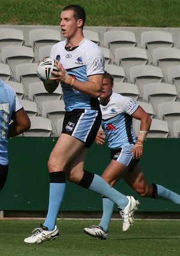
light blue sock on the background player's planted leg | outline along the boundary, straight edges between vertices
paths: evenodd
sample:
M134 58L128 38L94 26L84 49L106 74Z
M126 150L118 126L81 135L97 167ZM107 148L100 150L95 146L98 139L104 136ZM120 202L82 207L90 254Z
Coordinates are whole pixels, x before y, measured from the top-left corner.
M113 208L115 203L111 201L109 198L103 198L103 216L99 223L106 232L109 229L110 219L112 217Z

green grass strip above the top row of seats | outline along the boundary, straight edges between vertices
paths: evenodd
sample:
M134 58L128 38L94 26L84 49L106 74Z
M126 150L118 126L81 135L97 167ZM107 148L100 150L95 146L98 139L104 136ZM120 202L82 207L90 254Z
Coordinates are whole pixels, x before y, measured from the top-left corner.
M179 0L1 0L0 24L59 25L59 13L79 4L86 26L179 27Z

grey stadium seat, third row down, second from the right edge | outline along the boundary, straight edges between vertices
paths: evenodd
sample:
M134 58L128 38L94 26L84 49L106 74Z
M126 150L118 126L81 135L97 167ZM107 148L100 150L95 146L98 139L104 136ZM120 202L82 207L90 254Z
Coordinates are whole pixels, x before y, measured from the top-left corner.
M150 83L162 83L163 72L160 67L151 65L133 66L130 68L131 83L137 84L140 95L143 96L143 86Z

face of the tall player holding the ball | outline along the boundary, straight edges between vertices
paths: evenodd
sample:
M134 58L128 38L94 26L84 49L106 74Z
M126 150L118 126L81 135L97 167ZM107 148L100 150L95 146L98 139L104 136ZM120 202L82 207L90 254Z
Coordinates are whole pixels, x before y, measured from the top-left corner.
M67 39L75 36L78 28L78 20L74 18L74 11L62 11L60 19L62 35Z

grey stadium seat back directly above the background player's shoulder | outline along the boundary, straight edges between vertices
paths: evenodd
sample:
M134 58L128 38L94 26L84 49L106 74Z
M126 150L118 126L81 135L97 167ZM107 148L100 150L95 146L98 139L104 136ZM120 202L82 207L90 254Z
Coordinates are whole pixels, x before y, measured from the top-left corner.
M139 90L136 84L114 83L113 92L133 98L134 101L139 99Z

